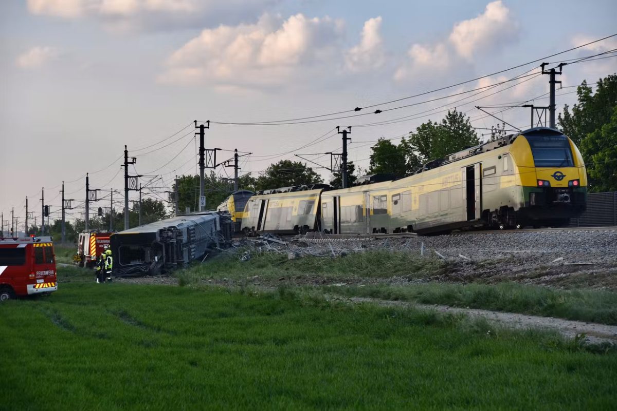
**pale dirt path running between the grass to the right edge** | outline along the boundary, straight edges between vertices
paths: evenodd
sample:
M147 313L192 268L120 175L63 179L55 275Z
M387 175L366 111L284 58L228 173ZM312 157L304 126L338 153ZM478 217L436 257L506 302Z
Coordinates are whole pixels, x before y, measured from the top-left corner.
M446 305L415 304L407 301L376 300L373 298L352 297L354 303L375 303L381 306L411 306L421 309L433 309L440 313L463 313L470 317L484 317L511 328L549 328L558 330L568 338L584 333L590 343L617 343L617 325L595 324L593 322L571 321L554 317L530 316L527 314L502 313L487 309L455 308Z

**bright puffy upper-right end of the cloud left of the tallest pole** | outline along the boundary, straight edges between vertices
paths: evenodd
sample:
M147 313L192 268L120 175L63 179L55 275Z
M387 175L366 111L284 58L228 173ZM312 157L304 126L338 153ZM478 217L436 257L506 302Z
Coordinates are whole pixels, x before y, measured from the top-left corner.
M487 4L484 13L478 17L456 23L449 39L458 54L471 60L478 50L489 52L510 41L516 30L510 10L497 0Z

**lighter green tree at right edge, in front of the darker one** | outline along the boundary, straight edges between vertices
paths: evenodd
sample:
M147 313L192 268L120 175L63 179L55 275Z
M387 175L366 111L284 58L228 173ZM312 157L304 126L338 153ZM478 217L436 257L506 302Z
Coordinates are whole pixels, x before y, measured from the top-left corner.
M610 122L587 134L581 150L590 161L587 174L594 180L594 191L617 190L617 106L613 107Z

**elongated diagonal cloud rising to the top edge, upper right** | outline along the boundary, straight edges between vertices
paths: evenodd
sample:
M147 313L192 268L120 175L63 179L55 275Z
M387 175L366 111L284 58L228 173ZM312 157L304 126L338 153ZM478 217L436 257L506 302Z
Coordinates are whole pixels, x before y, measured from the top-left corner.
M407 59L394 73L407 81L445 73L453 66L469 66L476 55L494 52L516 38L518 23L500 0L486 5L478 17L455 23L447 39L434 44L412 44Z

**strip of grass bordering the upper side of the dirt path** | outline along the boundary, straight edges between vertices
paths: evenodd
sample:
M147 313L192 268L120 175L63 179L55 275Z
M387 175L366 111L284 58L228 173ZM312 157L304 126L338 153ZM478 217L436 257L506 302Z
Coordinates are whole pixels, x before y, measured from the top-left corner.
M608 291L559 290L515 282L494 285L428 283L325 289L348 297L492 309L617 325L617 293Z

